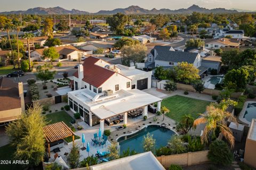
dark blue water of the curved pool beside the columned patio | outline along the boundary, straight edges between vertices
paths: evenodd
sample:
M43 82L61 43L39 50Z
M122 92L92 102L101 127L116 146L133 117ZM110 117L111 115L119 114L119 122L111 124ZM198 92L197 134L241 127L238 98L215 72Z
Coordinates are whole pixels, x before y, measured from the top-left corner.
M156 148L166 146L172 135L175 134L173 131L159 125L149 125L147 128L143 128L137 133L119 138L120 154L122 155L123 151L128 148L130 148L130 150L134 149L138 153L143 152L142 141L144 135L147 135L147 133L153 134L153 138L156 140Z

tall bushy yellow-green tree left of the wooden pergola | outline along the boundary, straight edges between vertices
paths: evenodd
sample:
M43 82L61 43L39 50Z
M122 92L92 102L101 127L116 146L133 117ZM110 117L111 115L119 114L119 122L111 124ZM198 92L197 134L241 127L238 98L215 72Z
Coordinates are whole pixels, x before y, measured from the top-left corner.
M45 153L45 138L43 127L46 125L42 108L35 104L29 108L17 121L6 128L11 144L16 148L14 158L28 160L29 166L37 166L43 161Z

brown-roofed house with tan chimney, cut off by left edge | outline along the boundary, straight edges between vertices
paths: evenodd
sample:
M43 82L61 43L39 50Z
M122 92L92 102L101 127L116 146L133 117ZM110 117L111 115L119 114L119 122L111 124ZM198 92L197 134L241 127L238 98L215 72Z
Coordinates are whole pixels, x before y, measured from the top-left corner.
M0 77L0 123L10 122L20 117L25 111L22 82Z

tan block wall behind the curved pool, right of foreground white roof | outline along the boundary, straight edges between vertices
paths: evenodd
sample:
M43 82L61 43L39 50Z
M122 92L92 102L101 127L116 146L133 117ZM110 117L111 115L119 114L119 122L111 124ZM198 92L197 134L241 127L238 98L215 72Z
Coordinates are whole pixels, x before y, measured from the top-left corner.
M191 166L208 162L208 152L209 150L203 150L197 152L187 152L185 154L159 156L156 158L165 168L169 168L172 164L180 166Z

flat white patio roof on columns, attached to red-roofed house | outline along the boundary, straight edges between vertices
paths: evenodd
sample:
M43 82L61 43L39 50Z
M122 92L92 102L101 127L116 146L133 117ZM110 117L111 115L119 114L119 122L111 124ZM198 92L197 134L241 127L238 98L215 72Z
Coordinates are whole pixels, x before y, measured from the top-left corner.
M97 117L105 119L162 100L161 98L155 97L138 89L127 90L126 92L131 94L129 98L123 98L113 104L106 106L102 105L98 108L91 109L91 112L93 112Z

